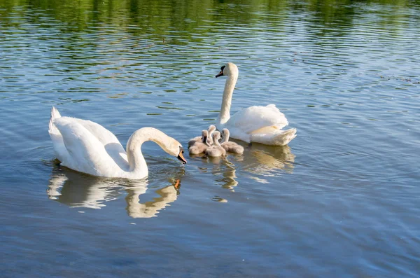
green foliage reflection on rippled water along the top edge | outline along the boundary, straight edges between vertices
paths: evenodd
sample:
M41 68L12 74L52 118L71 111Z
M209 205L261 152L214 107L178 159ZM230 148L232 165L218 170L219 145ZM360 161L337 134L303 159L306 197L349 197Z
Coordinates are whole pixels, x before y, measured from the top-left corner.
M59 26L63 32L112 25L134 35L149 34L148 39L162 44L182 45L186 43L185 40L200 41L200 36L196 34L218 32L218 27L222 25L235 27L263 22L279 27L277 24L288 15L302 12L311 15L308 20L314 22L314 25L326 27L348 27L360 12L377 14L379 24L395 27L402 22L402 17L409 16L395 11L412 5L407 0L0 0L0 22L2 25L18 27L20 23L10 18L19 15L30 22L43 23L43 28L55 28L57 25L51 22L53 18L64 23ZM177 36L172 36L173 32ZM328 32L328 28L324 32Z

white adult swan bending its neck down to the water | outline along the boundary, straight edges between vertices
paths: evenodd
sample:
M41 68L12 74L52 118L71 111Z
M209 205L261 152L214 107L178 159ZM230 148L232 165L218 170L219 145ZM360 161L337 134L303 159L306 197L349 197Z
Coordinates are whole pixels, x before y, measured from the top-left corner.
M148 175L141 144L154 141L181 162L183 148L179 141L153 127L135 131L127 142L127 153L117 137L90 120L62 117L51 109L48 132L61 165L94 176L141 179Z

